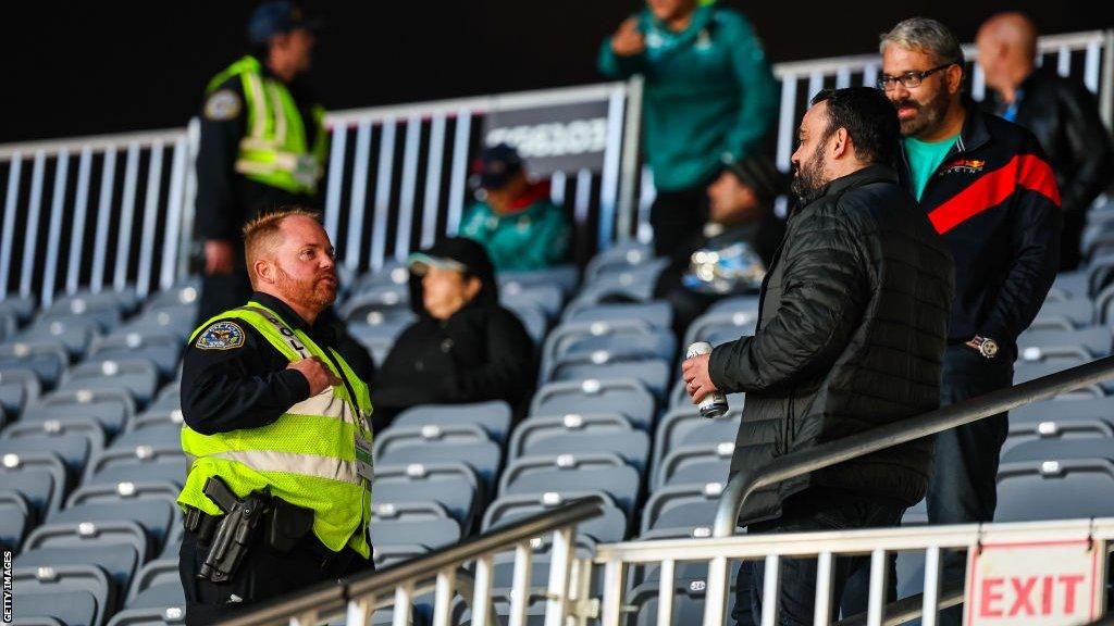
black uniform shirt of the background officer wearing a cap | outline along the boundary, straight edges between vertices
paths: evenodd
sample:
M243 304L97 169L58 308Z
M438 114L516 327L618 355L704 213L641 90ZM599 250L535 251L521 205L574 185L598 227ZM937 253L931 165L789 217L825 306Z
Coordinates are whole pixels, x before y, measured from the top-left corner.
M263 75L278 80L263 63ZM305 126L306 146L316 140L315 99L304 85L286 85ZM247 101L241 77L233 76L205 98L197 151L197 234L205 239L236 241L244 222L261 208L312 202L256 183L236 172L240 140L247 134Z

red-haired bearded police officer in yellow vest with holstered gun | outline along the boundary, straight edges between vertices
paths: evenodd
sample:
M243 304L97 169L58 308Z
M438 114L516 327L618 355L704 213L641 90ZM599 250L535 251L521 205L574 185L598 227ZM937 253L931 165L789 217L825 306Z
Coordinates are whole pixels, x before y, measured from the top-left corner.
M373 567L372 408L350 364L367 359L323 316L329 236L317 214L283 207L247 223L244 247L255 293L202 324L183 365L187 624Z

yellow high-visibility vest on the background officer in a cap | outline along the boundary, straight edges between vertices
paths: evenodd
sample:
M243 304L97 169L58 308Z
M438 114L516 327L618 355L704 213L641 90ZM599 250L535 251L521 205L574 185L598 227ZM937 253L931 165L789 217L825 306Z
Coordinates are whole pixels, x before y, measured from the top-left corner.
M286 85L263 74L254 57L244 57L209 82L212 91L240 76L247 107L247 135L240 143L235 169L246 178L294 194L313 194L324 169L324 114L314 107L316 127L312 149L306 145L306 120Z

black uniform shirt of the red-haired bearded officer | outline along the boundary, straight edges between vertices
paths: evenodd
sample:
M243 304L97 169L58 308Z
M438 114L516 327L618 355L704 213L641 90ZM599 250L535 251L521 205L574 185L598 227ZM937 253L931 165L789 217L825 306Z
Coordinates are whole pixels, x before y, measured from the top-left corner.
M286 325L304 332L323 350L335 349L352 371L371 384L371 358L344 332L331 310L322 312L311 326L277 297L256 292L252 301L277 313ZM186 426L202 434L215 434L274 422L310 397L309 381L287 365L290 360L251 324L233 317L213 322L186 348L182 371Z

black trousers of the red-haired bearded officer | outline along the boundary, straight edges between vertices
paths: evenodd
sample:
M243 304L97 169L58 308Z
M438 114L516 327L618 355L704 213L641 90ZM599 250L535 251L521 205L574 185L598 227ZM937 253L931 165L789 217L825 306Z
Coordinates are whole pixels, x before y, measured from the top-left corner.
M257 532L232 580L218 585L197 578L208 555L208 545L198 545L193 532L185 534L178 551L178 575L186 595L187 626L215 624L251 610L260 600L375 569L371 559L363 558L352 548L345 546L340 552L333 552L313 535L286 554L267 548L262 539L263 534Z

